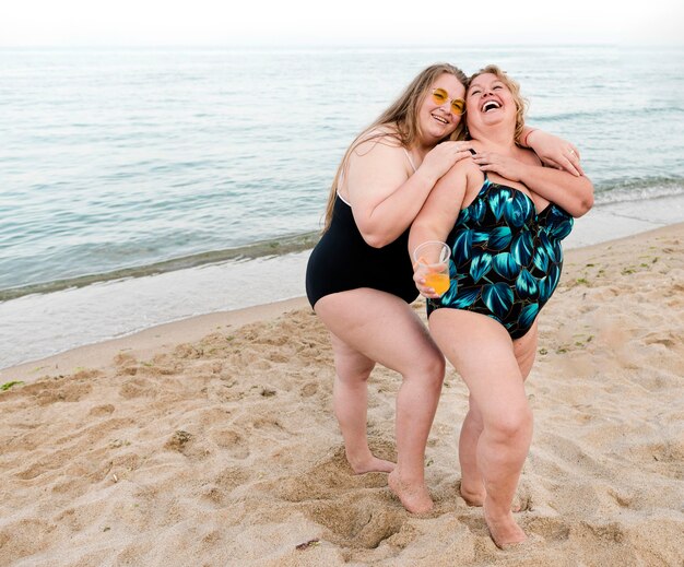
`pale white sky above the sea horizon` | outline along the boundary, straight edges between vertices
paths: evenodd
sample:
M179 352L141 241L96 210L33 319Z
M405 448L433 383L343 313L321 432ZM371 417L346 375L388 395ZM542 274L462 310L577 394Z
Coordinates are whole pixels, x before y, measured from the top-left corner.
M0 46L684 45L682 0L5 0L2 4Z

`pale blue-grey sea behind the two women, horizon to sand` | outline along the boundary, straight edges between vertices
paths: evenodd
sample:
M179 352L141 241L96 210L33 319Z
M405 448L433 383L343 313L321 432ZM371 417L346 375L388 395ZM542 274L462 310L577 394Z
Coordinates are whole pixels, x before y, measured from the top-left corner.
M684 194L681 47L1 49L0 368L303 295L346 145L439 61L518 80L597 203Z

